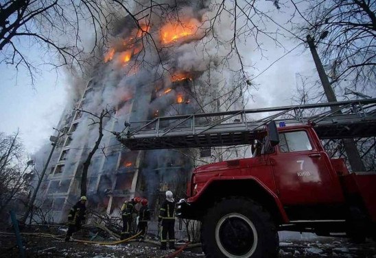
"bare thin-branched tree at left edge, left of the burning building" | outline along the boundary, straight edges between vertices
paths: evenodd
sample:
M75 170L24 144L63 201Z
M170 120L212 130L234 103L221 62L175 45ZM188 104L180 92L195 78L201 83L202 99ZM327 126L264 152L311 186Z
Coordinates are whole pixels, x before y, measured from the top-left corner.
M14 200L27 185L27 168L32 162L25 162L19 131L6 136L0 133L0 214L10 201Z

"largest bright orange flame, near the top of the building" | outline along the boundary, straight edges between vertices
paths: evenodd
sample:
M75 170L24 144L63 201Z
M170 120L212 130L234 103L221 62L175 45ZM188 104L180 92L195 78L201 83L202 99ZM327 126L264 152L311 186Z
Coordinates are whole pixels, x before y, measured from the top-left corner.
M166 24L161 29L161 40L164 44L175 42L180 38L184 38L195 33L196 24L188 22L187 24L176 23Z

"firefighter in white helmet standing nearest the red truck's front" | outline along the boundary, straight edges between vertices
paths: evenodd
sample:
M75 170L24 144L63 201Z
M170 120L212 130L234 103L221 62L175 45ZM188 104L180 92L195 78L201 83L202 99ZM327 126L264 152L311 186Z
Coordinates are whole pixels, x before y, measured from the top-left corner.
M172 192L166 192L166 199L159 211L158 226L161 225L161 250L167 249L167 235L169 248L175 248L175 200Z

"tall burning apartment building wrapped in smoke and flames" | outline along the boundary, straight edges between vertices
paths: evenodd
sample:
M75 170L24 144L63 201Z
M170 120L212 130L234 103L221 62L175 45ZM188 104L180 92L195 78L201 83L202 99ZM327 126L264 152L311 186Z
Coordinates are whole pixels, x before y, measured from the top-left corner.
M194 166L239 155L237 149L227 150L228 157L223 150L206 149L201 158L199 150L130 151L111 133L157 116L244 107L244 88L234 72L237 62L221 53L225 47L218 42L205 40L204 21L210 14L204 2L181 1L178 16L138 22L126 16L113 25L110 46L88 79L75 86L80 94L57 126L56 150L38 194L54 222L63 222L80 196L83 163L99 136L93 115L105 109L113 112L102 121L104 136L87 175L88 204L99 212L119 214L121 204L133 196L148 198L157 211L166 190L185 197ZM228 31L215 33L221 37Z

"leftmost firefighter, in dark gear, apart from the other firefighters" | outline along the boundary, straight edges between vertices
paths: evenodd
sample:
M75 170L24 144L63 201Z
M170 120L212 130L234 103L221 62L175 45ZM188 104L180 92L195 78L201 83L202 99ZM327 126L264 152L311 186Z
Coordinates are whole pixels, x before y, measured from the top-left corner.
M67 231L67 236L65 237L65 241L69 241L71 235L76 231L81 229L81 224L86 220L86 196L81 196L80 201L75 203L71 210L69 211L68 215L68 224L69 228Z

